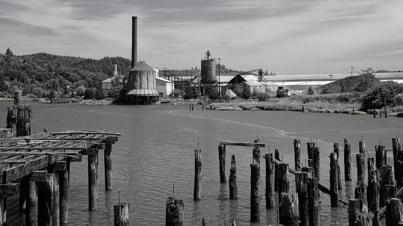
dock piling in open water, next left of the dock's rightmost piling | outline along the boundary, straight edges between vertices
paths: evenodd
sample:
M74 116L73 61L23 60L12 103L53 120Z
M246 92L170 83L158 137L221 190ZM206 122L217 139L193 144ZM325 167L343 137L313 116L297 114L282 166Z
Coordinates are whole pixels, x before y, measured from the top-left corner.
M97 171L96 156L88 155L88 209L97 209Z

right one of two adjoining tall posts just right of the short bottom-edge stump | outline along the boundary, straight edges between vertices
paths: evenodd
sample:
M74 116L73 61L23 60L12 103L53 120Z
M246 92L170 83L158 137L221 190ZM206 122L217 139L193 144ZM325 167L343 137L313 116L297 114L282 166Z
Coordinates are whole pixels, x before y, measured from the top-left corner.
M319 203L318 203L318 179L308 178L307 181L307 194L308 194L308 214L309 214L309 225L318 226L320 225L320 213L319 213Z

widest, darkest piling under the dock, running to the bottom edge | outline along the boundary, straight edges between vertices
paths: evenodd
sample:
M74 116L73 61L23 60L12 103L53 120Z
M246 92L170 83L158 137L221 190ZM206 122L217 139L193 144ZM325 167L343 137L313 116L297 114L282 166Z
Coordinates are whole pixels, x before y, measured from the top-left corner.
M46 174L45 181L38 182L38 225L53 225L53 183L54 174Z

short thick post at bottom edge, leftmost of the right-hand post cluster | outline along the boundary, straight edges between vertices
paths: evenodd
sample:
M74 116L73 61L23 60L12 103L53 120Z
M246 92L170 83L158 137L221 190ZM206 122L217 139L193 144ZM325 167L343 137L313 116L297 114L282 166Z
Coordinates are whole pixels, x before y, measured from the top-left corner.
M280 198L280 223L298 226L298 194L282 192Z

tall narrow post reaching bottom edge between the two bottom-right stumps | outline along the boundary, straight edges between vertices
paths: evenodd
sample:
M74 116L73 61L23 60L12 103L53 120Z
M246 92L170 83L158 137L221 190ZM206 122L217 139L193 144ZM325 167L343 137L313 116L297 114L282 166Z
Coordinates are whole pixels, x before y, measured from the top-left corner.
M373 159L373 158L372 158ZM372 220L372 225L379 225L379 193L378 193L378 171L369 170L368 171L368 188L367 188L367 203L368 210L373 212L374 217Z

